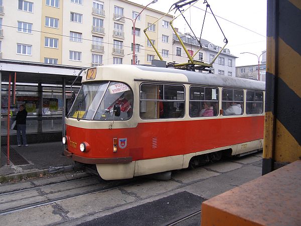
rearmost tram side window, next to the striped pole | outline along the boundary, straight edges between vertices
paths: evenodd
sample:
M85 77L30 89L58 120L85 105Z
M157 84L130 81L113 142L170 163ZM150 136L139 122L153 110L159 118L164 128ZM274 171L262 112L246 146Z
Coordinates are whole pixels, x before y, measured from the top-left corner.
M263 112L263 92L249 91L246 94L246 113L247 115L257 115Z

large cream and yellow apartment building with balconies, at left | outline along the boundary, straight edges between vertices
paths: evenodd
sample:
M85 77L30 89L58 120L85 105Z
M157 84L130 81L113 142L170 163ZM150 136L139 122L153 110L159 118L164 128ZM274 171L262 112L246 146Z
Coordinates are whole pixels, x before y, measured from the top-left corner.
M133 23L144 9L125 0L0 0L0 6L2 59L80 67L131 64ZM148 26L156 48L171 60L173 17L163 16L146 8L137 17L136 63L157 59L143 33Z

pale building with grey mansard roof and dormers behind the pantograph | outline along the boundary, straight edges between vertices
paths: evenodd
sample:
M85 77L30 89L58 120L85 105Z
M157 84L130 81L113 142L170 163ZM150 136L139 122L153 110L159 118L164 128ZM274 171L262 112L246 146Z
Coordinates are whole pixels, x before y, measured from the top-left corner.
M176 29L177 31L178 29ZM178 33L183 41L186 49L194 59L203 61L204 63L211 63L216 57L217 53L222 47L214 45L213 43L201 39L202 49L200 49L199 39L192 36L190 33ZM182 45L179 42L178 37L173 34L173 61L177 63L184 63L188 61L187 54L185 53ZM223 49L221 54L213 63L212 73L224 76L235 77L235 59L237 57L230 54L229 49Z

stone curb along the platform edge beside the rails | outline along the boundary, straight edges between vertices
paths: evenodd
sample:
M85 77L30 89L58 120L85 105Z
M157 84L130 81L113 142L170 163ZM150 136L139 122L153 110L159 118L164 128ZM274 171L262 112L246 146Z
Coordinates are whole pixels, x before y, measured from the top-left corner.
M46 174L56 174L61 172L70 172L74 170L74 166L63 166L61 168L57 168L56 170L53 170L56 167L49 167L48 169L41 169L41 170L35 170L35 171L28 171L28 172L21 172L21 173L13 173L8 175L0 175L0 183L8 182L8 181L20 181L25 178L29 177L42 177ZM51 172L52 171L52 172Z

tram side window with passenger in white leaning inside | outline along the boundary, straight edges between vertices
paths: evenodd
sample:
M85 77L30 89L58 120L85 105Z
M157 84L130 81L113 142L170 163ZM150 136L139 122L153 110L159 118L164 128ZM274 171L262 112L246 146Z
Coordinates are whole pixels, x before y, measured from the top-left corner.
M243 90L222 90L223 116L237 116L243 114Z

